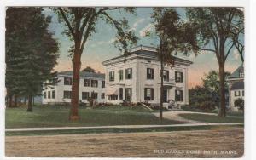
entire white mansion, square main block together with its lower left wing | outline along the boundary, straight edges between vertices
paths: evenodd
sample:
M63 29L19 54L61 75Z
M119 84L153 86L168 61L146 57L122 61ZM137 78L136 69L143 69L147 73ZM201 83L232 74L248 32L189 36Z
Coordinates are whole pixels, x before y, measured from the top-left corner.
M174 67L164 68L164 102L175 100L178 105L189 104L188 66L192 62L178 57L174 60ZM155 48L133 48L129 55L103 61L102 65L106 76L80 72L79 102L88 103L90 97L96 103L119 104L124 100L160 103L160 60ZM71 102L72 76L72 71L59 72L59 82L44 89L43 104Z

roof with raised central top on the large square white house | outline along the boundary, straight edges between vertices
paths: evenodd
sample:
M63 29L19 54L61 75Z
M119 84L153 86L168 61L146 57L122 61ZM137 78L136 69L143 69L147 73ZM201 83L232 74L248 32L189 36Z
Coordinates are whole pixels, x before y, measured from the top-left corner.
M102 64L110 62L112 60L118 60L118 59L122 59L122 58L125 58L125 57L129 57L131 55L136 55L136 56L143 55L143 56L151 57L151 58L154 58L154 59L158 58L155 48L141 45L141 46L138 46L136 48L130 49L129 54L127 54L127 55L123 54L123 55L119 55L117 57L114 57L113 59L105 60L105 61L102 62ZM174 60L177 60L177 61L180 61L180 62L185 62L185 63L188 63L188 64L193 63L192 61L185 60L185 59L179 58L179 57L174 56L174 55L172 55L172 57L174 58Z

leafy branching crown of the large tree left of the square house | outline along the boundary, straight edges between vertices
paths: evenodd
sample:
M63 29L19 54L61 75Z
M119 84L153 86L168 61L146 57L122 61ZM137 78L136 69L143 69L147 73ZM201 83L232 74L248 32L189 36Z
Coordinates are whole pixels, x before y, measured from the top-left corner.
M114 45L119 50L131 48L137 43L137 37L134 31L129 30L128 21L123 18L120 20L113 19L112 10L135 14L135 8L119 8L119 7L69 7L69 8L53 8L61 24L64 26L63 34L67 35L73 45L71 51L82 54L84 45L89 37L96 32L96 24L99 20L104 20L107 24L112 25L116 29L116 39Z

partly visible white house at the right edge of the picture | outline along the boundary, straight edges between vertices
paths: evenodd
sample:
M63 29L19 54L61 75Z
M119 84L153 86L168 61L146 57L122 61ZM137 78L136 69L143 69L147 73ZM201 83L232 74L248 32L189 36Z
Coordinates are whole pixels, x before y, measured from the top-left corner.
M235 106L235 100L238 98L244 99L244 67L239 66L236 71L232 72L230 77L227 77L229 85L229 107L231 111L238 111Z

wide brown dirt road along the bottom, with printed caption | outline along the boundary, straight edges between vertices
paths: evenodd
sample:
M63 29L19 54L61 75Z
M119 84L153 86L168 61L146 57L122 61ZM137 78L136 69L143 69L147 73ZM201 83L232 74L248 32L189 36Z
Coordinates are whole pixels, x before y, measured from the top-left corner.
M243 128L6 136L7 157L241 157Z

